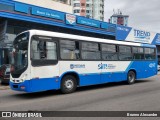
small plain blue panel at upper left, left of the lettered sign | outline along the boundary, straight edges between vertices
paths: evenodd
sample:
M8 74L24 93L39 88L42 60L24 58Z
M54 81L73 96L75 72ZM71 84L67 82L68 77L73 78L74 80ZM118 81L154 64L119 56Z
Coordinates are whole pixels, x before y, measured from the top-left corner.
M21 3L15 3L15 11L28 13L28 5L21 4Z

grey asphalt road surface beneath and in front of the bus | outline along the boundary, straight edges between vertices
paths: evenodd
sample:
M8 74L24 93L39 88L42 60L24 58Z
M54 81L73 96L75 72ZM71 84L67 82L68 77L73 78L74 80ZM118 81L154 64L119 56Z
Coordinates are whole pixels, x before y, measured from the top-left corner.
M160 111L160 75L133 85L80 87L72 94L4 89L0 90L0 111Z

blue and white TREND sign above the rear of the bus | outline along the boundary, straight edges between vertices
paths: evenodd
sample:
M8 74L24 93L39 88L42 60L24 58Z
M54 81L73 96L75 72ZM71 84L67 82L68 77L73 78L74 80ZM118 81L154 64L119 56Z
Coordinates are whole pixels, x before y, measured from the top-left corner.
M160 34L145 30L117 25L116 39L131 42L160 44Z

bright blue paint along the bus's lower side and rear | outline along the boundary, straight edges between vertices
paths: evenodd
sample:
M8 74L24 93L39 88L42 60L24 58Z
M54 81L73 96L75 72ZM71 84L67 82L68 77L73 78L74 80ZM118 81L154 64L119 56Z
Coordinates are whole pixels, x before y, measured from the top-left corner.
M156 67L157 63L155 61L141 62L141 64L139 64L139 61L135 61L131 62L130 65L127 67L127 69L122 72L78 74L80 78L79 86L125 81L127 80L127 74L130 69L136 70L137 79L147 78L157 74L157 68L152 68L151 66L149 67L150 64L154 63ZM10 87L13 90L26 91L26 92L56 90L60 89L61 78L62 76L59 78L32 79L32 80L26 80L23 83L19 84L10 82ZM25 89L22 90L21 86L25 86Z

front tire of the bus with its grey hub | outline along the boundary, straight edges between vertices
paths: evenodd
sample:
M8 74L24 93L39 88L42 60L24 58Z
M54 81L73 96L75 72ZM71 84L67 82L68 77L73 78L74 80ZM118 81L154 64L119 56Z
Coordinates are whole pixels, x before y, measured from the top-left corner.
M76 78L72 75L67 75L62 78L61 92L64 94L72 93L77 88Z

